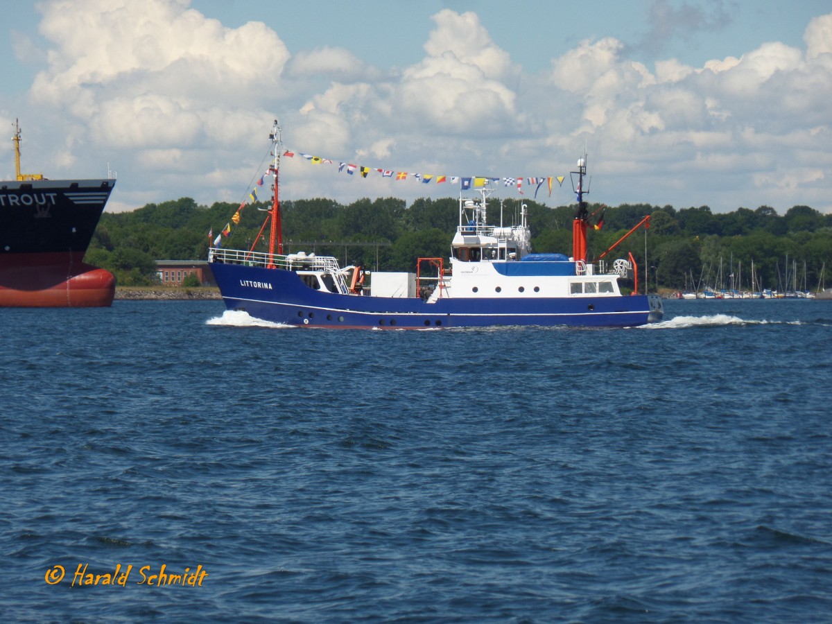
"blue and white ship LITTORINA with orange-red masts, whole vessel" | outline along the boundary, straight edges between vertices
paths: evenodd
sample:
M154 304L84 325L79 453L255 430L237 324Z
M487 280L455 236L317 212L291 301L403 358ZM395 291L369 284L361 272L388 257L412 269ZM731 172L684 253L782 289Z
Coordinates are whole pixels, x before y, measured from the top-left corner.
M460 196L448 257L420 258L413 271L391 273L341 267L333 256L284 253L276 122L270 139L274 161L269 168L273 194L266 217L268 249L256 251L255 241L249 250L216 244L209 250L210 268L228 310L278 324L341 329L624 327L662 317L659 296L637 291L622 295L622 277L632 276L637 290L631 255L610 262L604 260L605 252L595 262L587 260L586 155L572 171L577 210L571 256L532 253L525 207L516 225L491 224L489 191L481 189L479 196ZM649 215L636 228L648 223Z

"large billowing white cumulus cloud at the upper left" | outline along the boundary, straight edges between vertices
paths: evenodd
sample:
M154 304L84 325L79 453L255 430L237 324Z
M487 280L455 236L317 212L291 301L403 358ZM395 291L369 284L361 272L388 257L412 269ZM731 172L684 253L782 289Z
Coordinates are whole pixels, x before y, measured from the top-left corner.
M274 89L289 58L265 24L223 27L187 2L52 0L42 12L52 49L32 100L123 147L191 145L211 133L215 106L261 104L255 86Z

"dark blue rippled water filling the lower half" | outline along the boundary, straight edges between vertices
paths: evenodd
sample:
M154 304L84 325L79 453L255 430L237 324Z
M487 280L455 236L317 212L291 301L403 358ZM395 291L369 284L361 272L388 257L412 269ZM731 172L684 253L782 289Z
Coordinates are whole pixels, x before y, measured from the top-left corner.
M832 301L666 313L0 310L2 619L832 621Z

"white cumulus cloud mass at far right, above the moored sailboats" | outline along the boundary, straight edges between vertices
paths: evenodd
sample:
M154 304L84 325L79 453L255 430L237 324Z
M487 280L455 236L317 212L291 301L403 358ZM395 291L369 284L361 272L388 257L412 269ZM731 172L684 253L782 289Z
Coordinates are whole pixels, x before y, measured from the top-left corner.
M607 37L581 42L554 59L549 78L581 103L583 123L574 124L573 132L602 142L616 171L699 172L707 182L696 188L691 180L691 190L716 198L717 210L745 205L750 196L786 208L814 202L828 210L820 190L830 186L830 170L818 161L800 175L790 170L808 153L827 166L832 161L820 144L832 122L824 103L832 97L832 16L810 22L805 42L805 50L765 43L740 58L713 59L700 68L671 59L647 72L626 58L622 42ZM557 136L550 139L563 145ZM730 172L733 179L723 180ZM785 179L800 179L805 195L790 195L795 185ZM618 183L632 201L651 197L662 203L653 191L657 185L645 191L632 179Z

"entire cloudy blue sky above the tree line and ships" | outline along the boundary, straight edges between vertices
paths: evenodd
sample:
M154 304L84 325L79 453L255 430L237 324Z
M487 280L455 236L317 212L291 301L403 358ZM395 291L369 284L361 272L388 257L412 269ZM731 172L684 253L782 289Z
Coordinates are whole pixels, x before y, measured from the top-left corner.
M609 206L832 212L829 0L0 5L0 178L19 119L22 170L114 172L111 212L246 201L273 120L295 152L284 200L411 202L488 176L562 206L586 152L588 199Z

